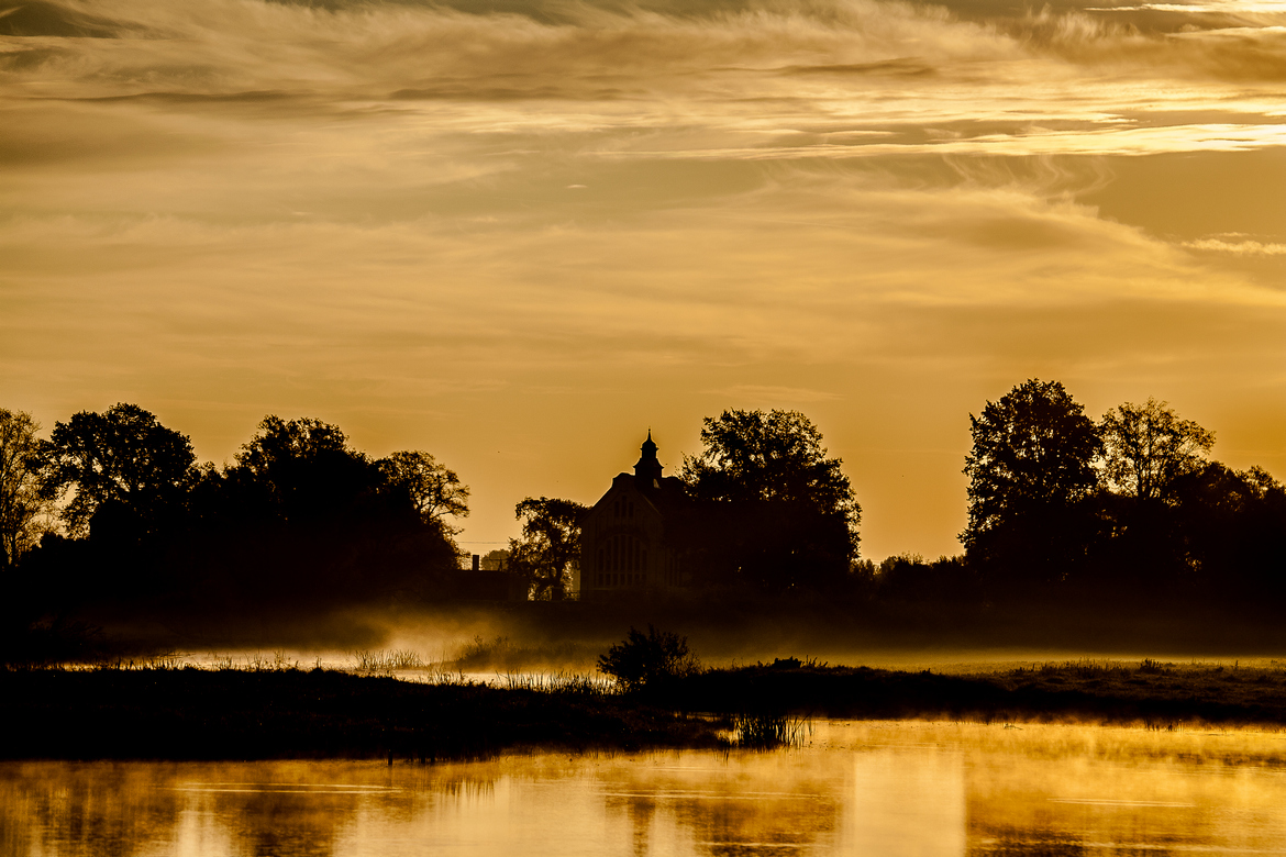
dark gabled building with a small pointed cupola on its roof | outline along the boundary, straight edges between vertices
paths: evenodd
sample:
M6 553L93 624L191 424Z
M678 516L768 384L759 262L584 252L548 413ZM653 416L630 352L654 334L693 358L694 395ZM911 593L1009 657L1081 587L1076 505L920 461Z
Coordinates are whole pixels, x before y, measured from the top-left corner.
M661 592L683 586L678 552L666 523L683 514L683 483L662 475L648 432L634 473L621 473L581 519L580 597Z

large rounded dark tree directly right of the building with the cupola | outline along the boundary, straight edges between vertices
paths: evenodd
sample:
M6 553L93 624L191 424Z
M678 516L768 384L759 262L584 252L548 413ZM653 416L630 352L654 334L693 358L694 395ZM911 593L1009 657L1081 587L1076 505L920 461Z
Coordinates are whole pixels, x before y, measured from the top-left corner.
M773 592L847 576L862 509L805 415L724 411L706 418L701 442L680 473L693 500L694 524L682 537L692 568Z

